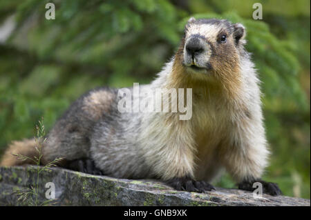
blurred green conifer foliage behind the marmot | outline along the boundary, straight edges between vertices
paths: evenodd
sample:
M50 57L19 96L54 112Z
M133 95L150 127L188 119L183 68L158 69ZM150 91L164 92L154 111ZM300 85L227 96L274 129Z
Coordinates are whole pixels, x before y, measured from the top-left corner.
M55 20L45 19L48 2ZM255 2L263 5L261 21L252 19ZM16 28L0 43L0 154L10 141L32 137L42 116L51 128L91 88L149 83L176 51L190 16L246 26L272 150L264 178L285 195L310 198L308 0L2 0L0 24L10 17ZM228 175L216 184L234 187Z

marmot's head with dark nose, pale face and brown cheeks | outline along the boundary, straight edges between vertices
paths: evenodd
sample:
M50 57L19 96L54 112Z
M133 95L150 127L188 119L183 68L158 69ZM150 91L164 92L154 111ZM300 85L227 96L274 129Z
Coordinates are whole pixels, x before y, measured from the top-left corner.
M192 75L214 75L231 81L245 55L245 28L219 19L189 19L175 63ZM202 77L200 77L202 78Z

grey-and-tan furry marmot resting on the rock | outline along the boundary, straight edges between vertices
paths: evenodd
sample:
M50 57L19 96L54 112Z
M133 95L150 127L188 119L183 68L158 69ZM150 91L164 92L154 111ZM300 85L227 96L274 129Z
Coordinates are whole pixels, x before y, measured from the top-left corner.
M160 179L189 192L213 190L209 182L225 168L240 189L252 191L261 182L264 193L281 194L276 183L260 179L269 151L259 80L245 42L241 23L189 19L176 54L144 88L192 88L191 119L180 120L176 112L120 112L122 89L91 90L49 132L43 163L63 157L59 166L65 168ZM13 142L1 165L21 165L11 152L33 157L34 146L34 140Z

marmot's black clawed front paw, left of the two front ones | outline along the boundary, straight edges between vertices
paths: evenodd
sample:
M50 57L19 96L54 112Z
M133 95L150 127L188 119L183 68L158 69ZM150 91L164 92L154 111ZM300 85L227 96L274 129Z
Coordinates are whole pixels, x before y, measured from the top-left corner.
M215 190L214 186L205 181L195 181L190 177L173 178L167 184L175 190L185 190L188 192L205 192Z

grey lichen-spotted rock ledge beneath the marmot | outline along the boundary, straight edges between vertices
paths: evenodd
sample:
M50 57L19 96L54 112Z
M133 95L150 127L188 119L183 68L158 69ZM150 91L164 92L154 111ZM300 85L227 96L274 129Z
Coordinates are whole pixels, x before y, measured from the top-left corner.
M35 166L0 167L0 205L20 206L15 190L29 188L36 179ZM266 194L254 199L250 192L224 188L207 194L181 192L158 181L115 179L62 168L41 172L40 201L46 200L48 182L55 184L58 206L310 206L310 199Z

